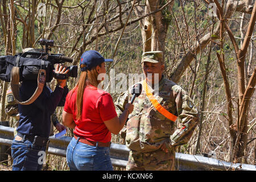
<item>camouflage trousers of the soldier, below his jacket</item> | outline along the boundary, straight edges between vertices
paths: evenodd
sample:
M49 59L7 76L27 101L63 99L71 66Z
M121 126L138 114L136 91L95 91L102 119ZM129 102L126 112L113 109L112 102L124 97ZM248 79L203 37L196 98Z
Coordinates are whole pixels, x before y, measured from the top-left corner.
M174 171L175 153L130 151L126 171Z

